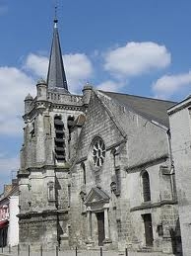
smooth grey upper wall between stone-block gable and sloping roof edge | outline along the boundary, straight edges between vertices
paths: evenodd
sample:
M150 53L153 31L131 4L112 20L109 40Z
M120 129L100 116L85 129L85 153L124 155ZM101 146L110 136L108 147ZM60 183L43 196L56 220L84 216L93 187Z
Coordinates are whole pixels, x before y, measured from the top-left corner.
M112 112L127 134L129 167L168 155L168 128L127 108L103 92L97 92L101 102Z

